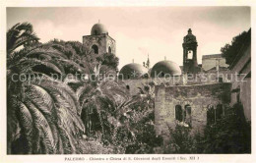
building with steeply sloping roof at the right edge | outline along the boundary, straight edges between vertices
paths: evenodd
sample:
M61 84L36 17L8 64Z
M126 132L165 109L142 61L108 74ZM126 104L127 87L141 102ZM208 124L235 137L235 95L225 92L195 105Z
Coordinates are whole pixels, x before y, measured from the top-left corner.
M241 104L246 120L251 121L251 29L230 64L229 71L232 83L230 105Z

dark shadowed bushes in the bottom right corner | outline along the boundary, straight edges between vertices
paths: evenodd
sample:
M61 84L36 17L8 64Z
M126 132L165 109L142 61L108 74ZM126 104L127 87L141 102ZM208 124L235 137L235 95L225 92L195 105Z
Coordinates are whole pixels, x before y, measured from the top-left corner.
M240 103L226 110L223 119L205 129L203 153L250 153L251 126Z

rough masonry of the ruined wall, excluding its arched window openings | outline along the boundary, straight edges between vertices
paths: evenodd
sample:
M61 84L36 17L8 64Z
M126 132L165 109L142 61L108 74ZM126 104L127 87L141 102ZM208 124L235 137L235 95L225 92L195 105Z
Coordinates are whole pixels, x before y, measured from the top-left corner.
M207 124L209 105L227 106L230 102L231 83L213 83L197 85L178 85L155 87L155 125L157 135L168 135L168 126L172 129L178 124L175 120L175 106L191 106L192 133L202 132ZM167 137L165 137L167 138Z

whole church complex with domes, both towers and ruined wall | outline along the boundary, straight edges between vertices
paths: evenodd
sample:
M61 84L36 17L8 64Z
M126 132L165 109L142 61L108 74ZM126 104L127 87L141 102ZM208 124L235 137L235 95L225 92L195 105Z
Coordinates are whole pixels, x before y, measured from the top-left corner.
M116 41L102 24L94 25L91 35L83 36L83 44L96 54L116 55ZM222 54L203 55L202 64L198 64L198 45L189 28L181 43L183 65L164 59L151 68L148 59L143 64L127 63L118 74L117 79L126 84L132 95L139 92L138 87L154 83L157 135L167 138L168 128L176 125L202 132L207 124L224 116L225 108L233 100L230 71L224 57ZM192 80L189 80L190 75L193 75Z

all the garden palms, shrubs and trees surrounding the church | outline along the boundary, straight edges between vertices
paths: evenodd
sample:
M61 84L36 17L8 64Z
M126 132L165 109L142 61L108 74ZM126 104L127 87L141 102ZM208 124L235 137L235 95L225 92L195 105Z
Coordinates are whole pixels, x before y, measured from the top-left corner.
M238 48L242 38L230 46ZM250 152L250 124L240 104L204 135L170 129L163 145L155 133L154 82L131 96L124 82L100 77L116 75L113 54L90 53L78 41L38 40L28 23L7 32L9 154ZM232 48L226 45L224 55Z

